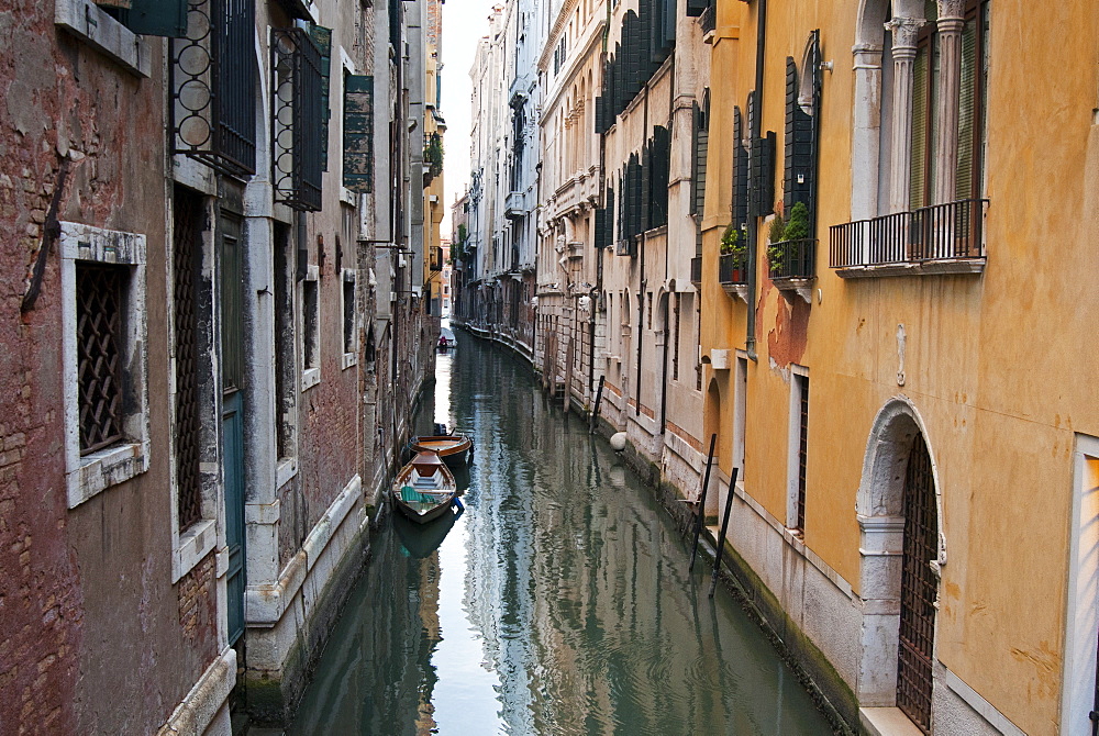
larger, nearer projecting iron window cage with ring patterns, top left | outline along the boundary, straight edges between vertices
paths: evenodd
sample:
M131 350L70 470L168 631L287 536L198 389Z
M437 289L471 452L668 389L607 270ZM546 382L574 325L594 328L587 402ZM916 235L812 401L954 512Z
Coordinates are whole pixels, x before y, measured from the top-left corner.
M191 0L168 65L173 153L256 172L255 0Z

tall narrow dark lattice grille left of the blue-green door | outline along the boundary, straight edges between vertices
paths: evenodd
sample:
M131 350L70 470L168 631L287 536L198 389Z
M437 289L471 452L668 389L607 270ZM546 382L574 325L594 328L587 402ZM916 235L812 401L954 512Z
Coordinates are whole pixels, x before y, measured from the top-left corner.
M173 233L173 311L176 347L176 488L179 528L202 517L199 476L198 341L196 301L198 260L196 243L202 201L177 192Z

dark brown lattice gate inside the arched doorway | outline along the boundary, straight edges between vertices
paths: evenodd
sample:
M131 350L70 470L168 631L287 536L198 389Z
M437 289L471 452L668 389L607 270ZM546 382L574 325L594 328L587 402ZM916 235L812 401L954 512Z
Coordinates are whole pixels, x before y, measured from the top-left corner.
M939 576L939 510L931 456L922 434L912 439L904 471L904 545L901 558L897 706L931 733L932 657Z

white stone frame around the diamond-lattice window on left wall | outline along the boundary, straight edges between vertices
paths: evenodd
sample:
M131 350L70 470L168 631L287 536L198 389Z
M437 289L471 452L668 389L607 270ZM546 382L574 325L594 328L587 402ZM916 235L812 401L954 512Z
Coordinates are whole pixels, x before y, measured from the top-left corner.
M65 486L68 508L75 509L107 489L148 470L148 335L145 322L145 236L103 230L76 222L60 223L62 254L62 379L65 405ZM129 390L137 400L122 420L122 442L80 455L80 388L77 346L77 263L130 266L125 303L124 365L136 379Z

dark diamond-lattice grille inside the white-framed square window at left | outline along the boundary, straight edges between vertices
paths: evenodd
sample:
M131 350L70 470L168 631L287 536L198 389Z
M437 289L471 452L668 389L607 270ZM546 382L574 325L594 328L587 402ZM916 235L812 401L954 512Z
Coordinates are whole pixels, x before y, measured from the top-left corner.
M122 315L129 269L76 267L80 454L122 438Z

